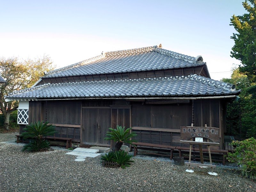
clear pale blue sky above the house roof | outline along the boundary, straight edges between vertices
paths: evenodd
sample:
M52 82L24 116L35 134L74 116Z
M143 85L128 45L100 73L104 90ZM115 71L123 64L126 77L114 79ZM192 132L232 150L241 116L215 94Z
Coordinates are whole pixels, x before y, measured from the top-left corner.
M0 57L48 54L57 68L100 55L158 43L202 55L212 79L230 76L232 15L243 0L5 1L0 0Z

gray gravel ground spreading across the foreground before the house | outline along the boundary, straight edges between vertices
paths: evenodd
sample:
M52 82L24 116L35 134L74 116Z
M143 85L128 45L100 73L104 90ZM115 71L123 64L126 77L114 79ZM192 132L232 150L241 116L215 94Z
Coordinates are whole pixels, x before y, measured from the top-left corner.
M0 133L0 142L15 140L15 133ZM236 170L210 168L134 159L126 169L104 168L100 157L76 162L67 151L21 152L19 145L0 143L0 191L256 191L256 182Z

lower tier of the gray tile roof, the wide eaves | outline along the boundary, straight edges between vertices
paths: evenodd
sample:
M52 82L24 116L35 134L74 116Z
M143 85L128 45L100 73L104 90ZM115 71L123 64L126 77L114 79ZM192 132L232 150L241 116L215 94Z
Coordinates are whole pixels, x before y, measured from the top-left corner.
M44 84L10 93L10 99L234 95L235 85L203 76Z

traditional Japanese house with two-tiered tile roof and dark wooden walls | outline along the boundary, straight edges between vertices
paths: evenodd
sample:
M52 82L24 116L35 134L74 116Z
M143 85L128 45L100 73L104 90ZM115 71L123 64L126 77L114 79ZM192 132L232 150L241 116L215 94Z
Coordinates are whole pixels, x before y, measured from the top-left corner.
M168 51L162 45L105 52L45 72L31 88L6 96L19 100L20 132L26 124L49 121L56 137L110 146L109 127L132 127L140 142L182 146L180 126L226 131L226 103L235 85L210 78L202 56Z

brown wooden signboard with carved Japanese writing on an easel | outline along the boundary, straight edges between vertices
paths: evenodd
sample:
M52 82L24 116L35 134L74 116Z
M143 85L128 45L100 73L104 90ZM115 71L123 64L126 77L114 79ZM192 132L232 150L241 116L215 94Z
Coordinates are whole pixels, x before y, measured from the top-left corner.
M190 140L194 137L202 137L212 140L212 142L220 142L220 128L217 127L180 127L180 139Z

